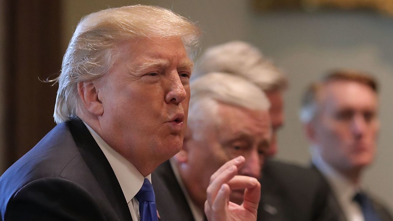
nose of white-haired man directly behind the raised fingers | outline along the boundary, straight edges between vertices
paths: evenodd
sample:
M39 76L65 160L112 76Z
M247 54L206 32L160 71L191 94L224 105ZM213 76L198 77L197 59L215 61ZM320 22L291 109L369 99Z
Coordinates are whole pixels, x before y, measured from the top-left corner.
M239 175L245 175L259 179L261 177L261 169L263 158L260 157L257 150L251 151L248 155L244 155L246 162L239 170Z

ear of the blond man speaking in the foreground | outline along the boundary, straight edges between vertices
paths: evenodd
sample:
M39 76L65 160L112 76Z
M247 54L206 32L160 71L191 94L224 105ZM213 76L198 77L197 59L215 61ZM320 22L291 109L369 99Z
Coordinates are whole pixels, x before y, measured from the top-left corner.
M78 82L78 94L84 108L93 115L101 116L104 113L102 97L98 93L96 84L92 81Z

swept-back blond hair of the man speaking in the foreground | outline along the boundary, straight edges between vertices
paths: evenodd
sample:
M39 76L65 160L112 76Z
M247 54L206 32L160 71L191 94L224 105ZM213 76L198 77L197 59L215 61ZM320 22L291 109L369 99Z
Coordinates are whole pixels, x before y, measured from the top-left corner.
M78 24L64 54L55 111L56 123L76 117L81 105L77 83L109 72L119 44L138 38L180 37L192 58L200 29L192 22L158 6L132 5L110 8L85 16Z

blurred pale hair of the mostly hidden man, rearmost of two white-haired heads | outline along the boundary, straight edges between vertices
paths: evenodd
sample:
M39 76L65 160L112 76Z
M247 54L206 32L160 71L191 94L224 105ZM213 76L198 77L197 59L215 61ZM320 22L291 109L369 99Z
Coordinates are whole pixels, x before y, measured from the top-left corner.
M261 51L241 41L207 49L197 62L194 77L210 72L239 75L264 91L282 90L287 86L285 75Z

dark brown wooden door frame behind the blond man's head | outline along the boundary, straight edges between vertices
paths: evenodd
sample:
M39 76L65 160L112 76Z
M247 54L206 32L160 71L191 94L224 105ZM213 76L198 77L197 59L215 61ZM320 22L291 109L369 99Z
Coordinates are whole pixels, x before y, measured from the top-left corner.
M53 126L57 86L39 79L61 68L61 1L6 0L6 165Z

